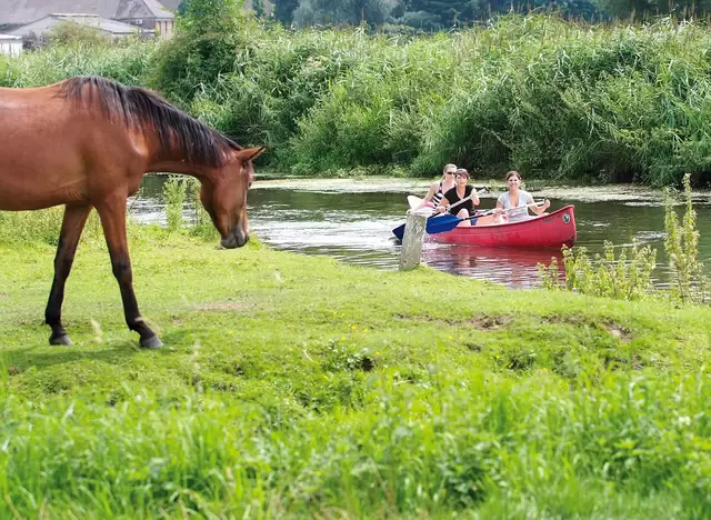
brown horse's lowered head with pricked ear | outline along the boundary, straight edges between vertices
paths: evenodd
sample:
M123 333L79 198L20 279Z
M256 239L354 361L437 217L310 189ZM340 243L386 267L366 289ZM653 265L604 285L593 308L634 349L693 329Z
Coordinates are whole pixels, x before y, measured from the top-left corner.
M247 192L252 184L257 159L264 147L233 150L227 163L209 181L202 182L200 200L220 232L220 244L241 248L249 240Z

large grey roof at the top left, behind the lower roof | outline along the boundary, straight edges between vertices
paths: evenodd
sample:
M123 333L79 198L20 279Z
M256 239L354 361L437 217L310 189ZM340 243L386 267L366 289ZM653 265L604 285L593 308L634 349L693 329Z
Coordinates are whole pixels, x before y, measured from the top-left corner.
M0 0L0 26L24 24L53 12L81 12L102 18L118 17L121 12L144 12L136 18L172 18L158 0ZM153 12L160 14L152 14ZM132 18L132 17L126 17Z

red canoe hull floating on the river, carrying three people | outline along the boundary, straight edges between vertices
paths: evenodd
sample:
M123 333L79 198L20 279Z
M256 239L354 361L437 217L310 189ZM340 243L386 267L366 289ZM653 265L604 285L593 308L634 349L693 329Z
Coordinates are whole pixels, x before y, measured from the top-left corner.
M468 246L505 246L514 248L569 248L575 243L575 213L573 206L522 222L497 226L458 227L451 231L431 234L432 240Z

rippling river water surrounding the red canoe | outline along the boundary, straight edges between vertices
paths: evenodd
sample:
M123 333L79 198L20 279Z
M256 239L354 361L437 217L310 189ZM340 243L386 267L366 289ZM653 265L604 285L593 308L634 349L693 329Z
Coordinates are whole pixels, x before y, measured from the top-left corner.
M146 177L131 204L136 219L164 222L162 183L164 176ZM267 180L254 183L249 194L251 232L274 249L304 254L327 254L349 263L397 269L400 243L392 229L404 222L408 194L423 196L430 181L362 180ZM477 184L477 182L474 182ZM603 242L630 248L634 241L657 249L654 282L664 286L668 260L664 253L664 209L659 191L634 186L600 188L542 188L531 190L537 200L547 197L551 208L575 206L577 247L592 254ZM499 192L482 198L492 208ZM711 193L694 193L694 209L701 234L700 256L711 267ZM682 208L679 208L680 216ZM186 212L188 214L188 211ZM619 248L615 248L619 252ZM422 262L441 271L511 288L535 287L539 262L550 263L557 250L520 250L440 244L425 240Z

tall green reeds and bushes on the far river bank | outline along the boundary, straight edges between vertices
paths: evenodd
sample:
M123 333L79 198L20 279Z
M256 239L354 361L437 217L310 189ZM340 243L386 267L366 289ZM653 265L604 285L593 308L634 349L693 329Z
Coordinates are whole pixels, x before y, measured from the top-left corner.
M216 16L217 17L217 16ZM704 24L579 26L501 17L448 34L284 31L189 20L161 46L79 46L0 60L0 84L99 73L160 89L300 176L360 169L694 184L711 178Z

